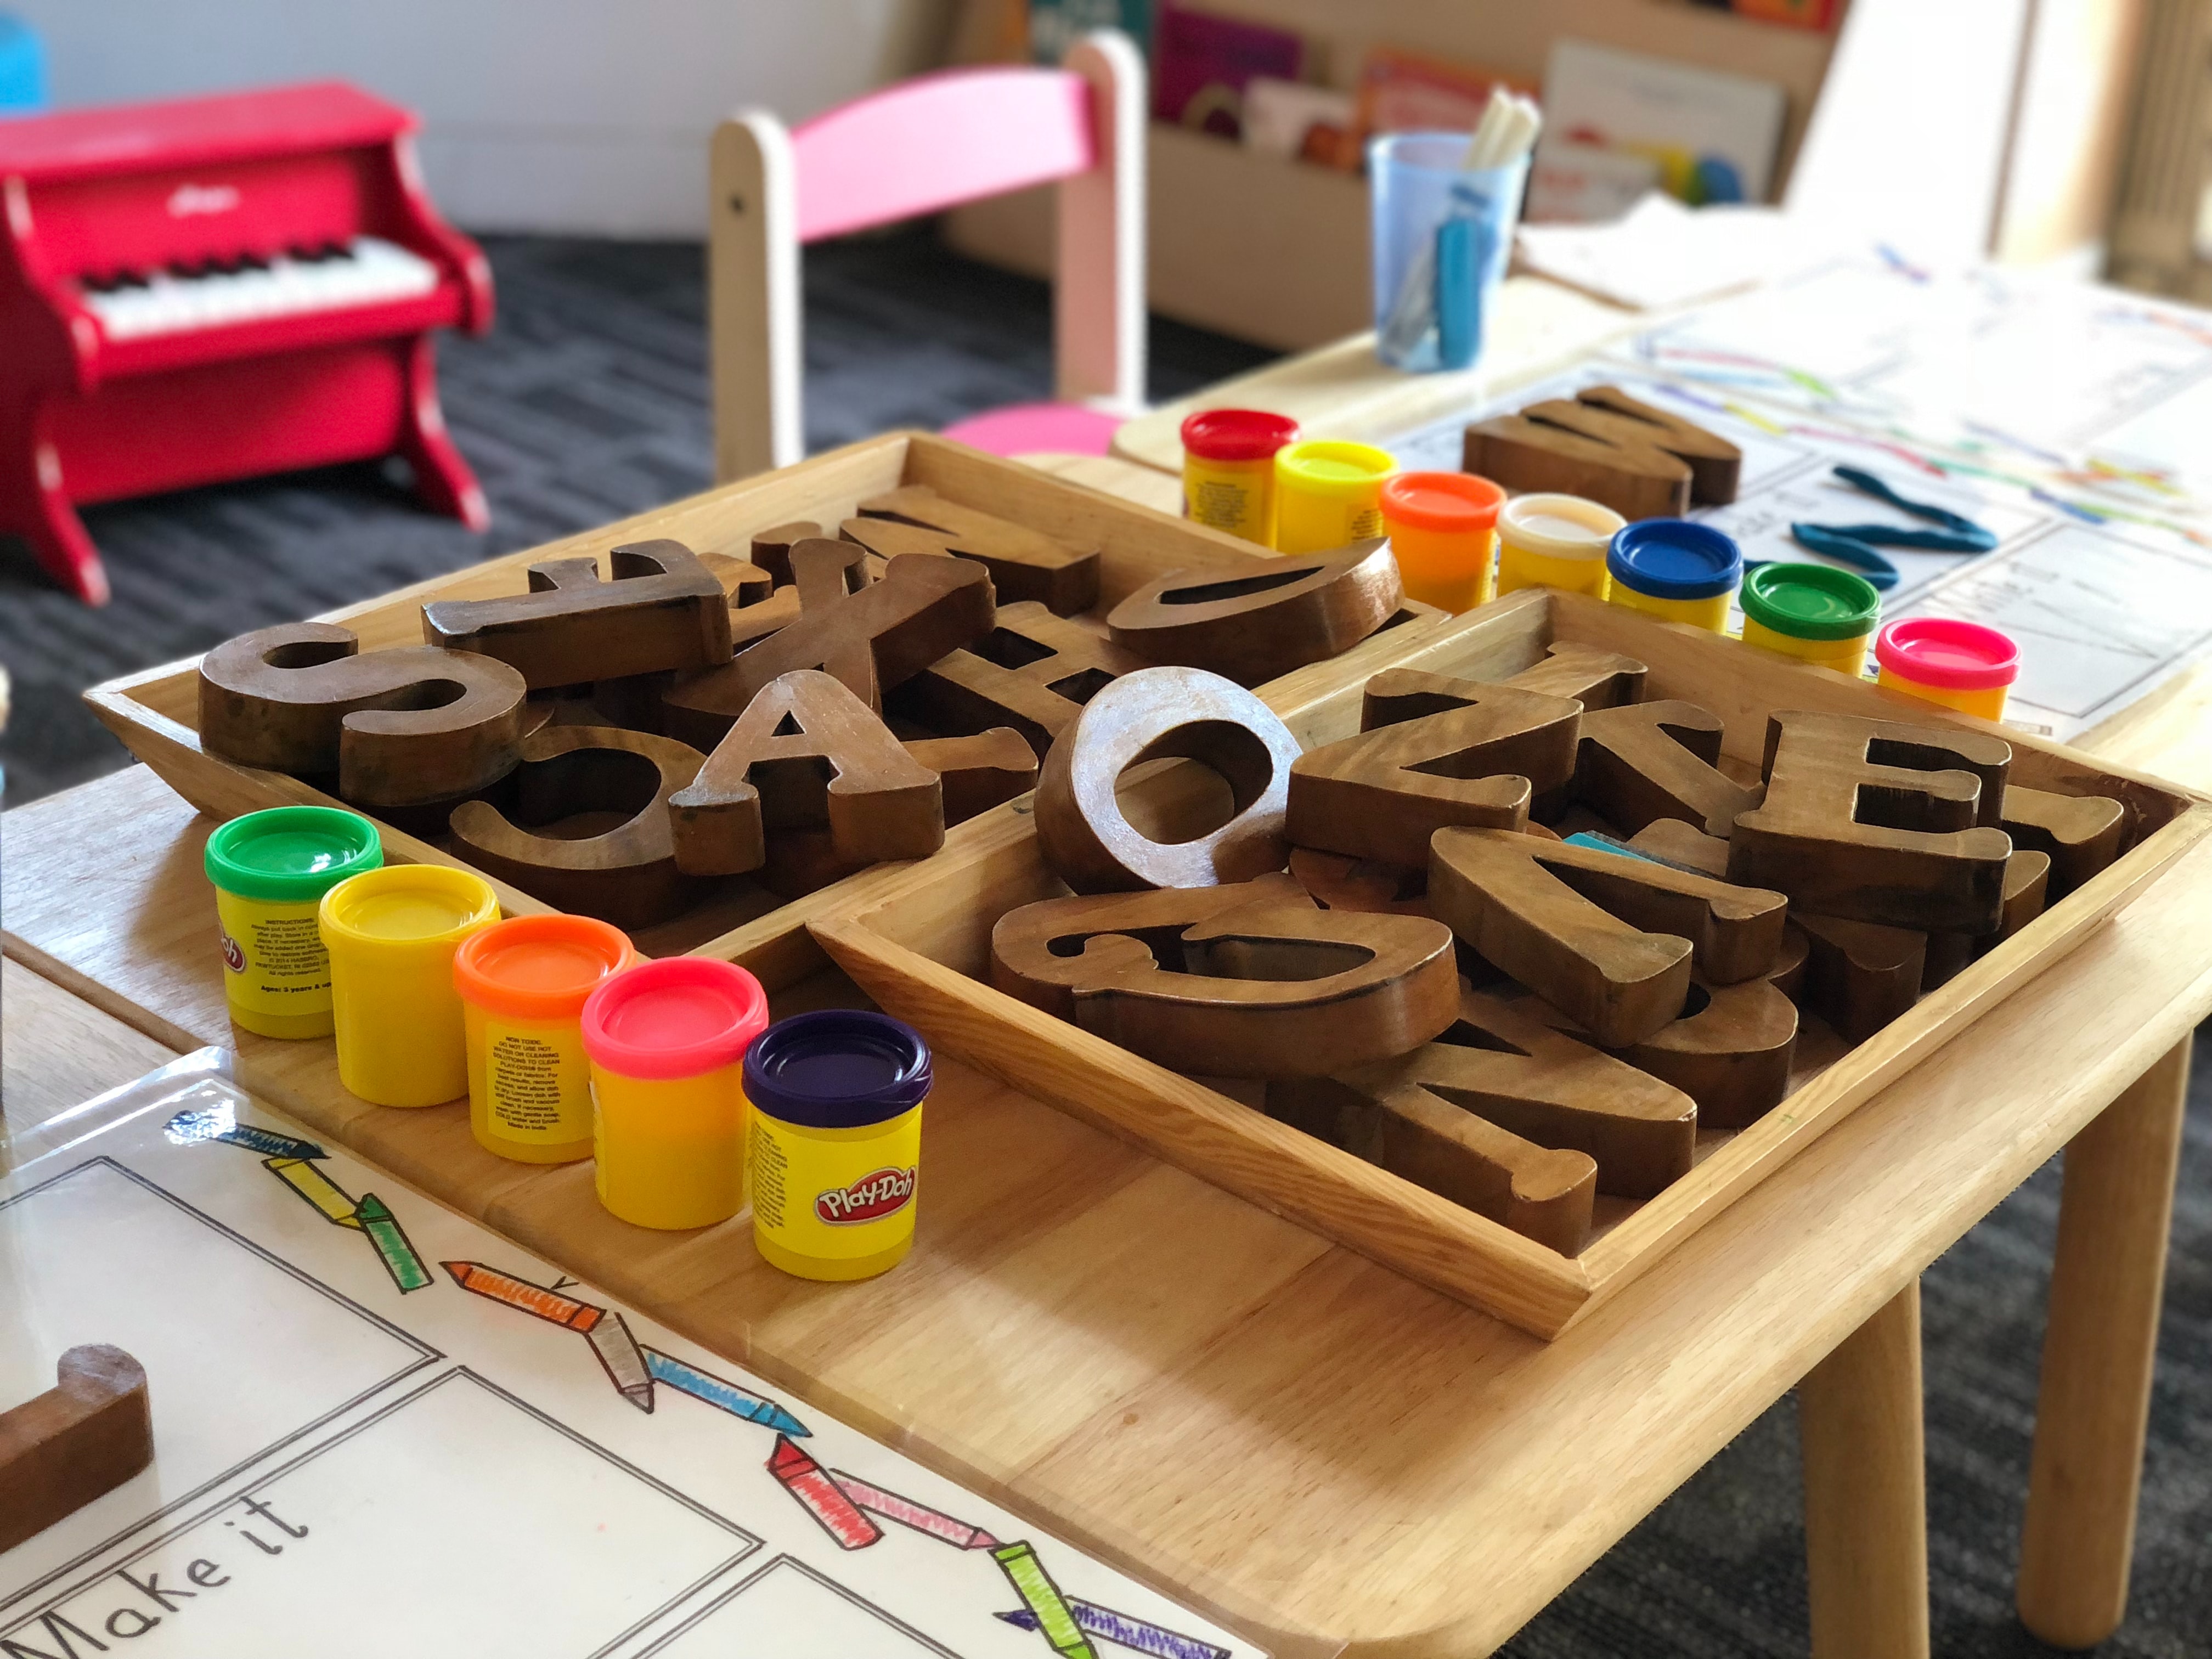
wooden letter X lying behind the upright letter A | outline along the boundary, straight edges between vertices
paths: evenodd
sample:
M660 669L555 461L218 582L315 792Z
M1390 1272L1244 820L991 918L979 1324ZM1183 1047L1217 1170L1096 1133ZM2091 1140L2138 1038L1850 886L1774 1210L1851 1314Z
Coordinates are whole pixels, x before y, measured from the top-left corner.
M668 734L712 748L763 686L799 668L823 668L880 708L880 690L991 633L991 577L980 564L891 560L880 582L854 591L856 557L865 555L852 542L799 542L792 549L799 619L723 668L681 675L664 699Z

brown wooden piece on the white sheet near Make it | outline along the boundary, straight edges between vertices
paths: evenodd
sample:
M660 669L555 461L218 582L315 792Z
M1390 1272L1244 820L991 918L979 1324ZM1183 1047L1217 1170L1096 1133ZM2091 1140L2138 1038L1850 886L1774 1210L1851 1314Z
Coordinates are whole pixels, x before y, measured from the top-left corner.
M153 1462L146 1371L135 1358L86 1343L53 1369L51 1389L0 1411L0 1555Z

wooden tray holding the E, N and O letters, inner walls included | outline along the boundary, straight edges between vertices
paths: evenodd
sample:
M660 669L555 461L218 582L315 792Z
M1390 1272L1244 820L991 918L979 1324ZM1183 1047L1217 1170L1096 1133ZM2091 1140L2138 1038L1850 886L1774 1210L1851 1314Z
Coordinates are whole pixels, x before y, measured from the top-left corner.
M1761 759L1767 714L1785 708L2000 732L2013 743L2017 781L2124 801L2135 818L2135 845L1876 1037L1849 1051L1832 1044L1827 1053L1840 1051L1840 1057L1801 1071L1794 1093L1759 1124L1739 1135L1701 1135L1690 1175L1641 1206L1610 1206L1613 1225L1593 1234L1573 1259L1279 1124L1252 1104L993 991L987 984L991 925L1018 905L1066 891L1037 852L1026 796L964 825L958 852L949 847L925 876L896 874L858 896L860 909L823 911L810 929L876 1002L911 1020L940 1048L1409 1279L1551 1338L2059 960L2212 830L2212 801L2179 785L1575 595L1533 591L1484 606L1425 637L1402 639L1396 666L1498 679L1533 664L1553 639L1646 661L1646 695L1683 697L1714 710L1728 726L1723 754L1750 765ZM1347 677L1270 701L1312 745L1358 730L1363 684ZM1150 792L1172 796L1172 774L1150 781ZM1172 812L1172 801L1152 807ZM1241 1084L1234 1088L1245 1093Z

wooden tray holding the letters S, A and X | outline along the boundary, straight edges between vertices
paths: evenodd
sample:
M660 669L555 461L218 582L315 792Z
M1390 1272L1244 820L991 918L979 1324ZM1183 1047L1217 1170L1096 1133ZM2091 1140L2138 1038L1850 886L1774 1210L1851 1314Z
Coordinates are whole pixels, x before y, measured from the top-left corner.
M1020 462L927 434L891 434L741 484L726 484L619 524L524 553L509 553L447 577L387 593L380 599L330 611L316 622L338 622L352 628L361 635L363 650L418 646L422 644L422 606L427 602L522 593L524 568L540 560L602 557L611 546L661 535L675 538L697 553L743 557L757 531L792 520L836 524L852 518L856 502L900 484L929 484L940 495L967 507L1068 542L1097 546L1102 551L1099 604L1088 622L1102 630L1106 613L1157 575L1274 560L1272 553L1234 535L1135 507ZM1409 602L1380 633L1327 664L1285 675L1261 688L1261 695L1287 712L1325 697L1338 684L1360 686L1371 672L1402 655L1416 637L1433 633L1442 622L1444 613ZM1287 701L1279 701L1279 697ZM332 796L294 776L237 765L199 748L199 657L111 679L88 690L84 701L133 754L201 812L230 818L257 807L338 805ZM442 847L387 823L378 823L378 830L385 836L385 856L394 863L469 867L467 860ZM953 854L960 827L951 834L953 841L938 854L938 860ZM639 929L635 933L637 947L648 956L697 949L743 962L774 991L827 967L821 951L807 940L805 922L810 918L854 909L900 869L905 865L876 865L792 902L779 900L754 880L732 878L721 883L717 896L706 905L657 927ZM509 916L551 909L507 883L493 880L491 885Z

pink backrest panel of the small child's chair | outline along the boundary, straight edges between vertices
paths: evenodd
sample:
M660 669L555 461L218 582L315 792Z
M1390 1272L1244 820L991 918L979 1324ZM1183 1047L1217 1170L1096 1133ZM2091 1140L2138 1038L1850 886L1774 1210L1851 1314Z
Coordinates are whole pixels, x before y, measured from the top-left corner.
M1066 69L949 69L792 131L799 241L1088 173L1091 84Z

